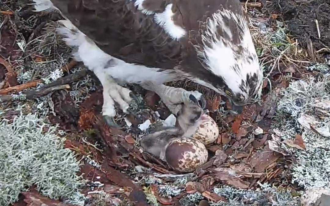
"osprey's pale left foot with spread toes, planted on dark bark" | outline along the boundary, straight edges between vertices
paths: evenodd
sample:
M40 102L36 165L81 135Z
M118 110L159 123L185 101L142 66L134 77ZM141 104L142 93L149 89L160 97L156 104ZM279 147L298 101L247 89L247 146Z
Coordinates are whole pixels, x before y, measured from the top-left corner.
M116 108L117 105L125 114L133 114L134 112L130 109L129 103L138 101L138 98L133 94L133 92L125 87L120 86L111 77L103 85L103 107L102 114L104 120L110 127L119 127L115 121Z

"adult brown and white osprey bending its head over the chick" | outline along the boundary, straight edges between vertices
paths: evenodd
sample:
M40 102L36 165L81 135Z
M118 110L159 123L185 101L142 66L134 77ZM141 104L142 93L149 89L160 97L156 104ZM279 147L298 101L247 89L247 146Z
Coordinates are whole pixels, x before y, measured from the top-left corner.
M73 56L103 85L103 115L115 103L127 113L138 83L174 114L181 103L205 100L197 91L163 85L188 78L225 95L235 106L261 91L263 74L239 0L34 0L36 11L59 11L57 32Z

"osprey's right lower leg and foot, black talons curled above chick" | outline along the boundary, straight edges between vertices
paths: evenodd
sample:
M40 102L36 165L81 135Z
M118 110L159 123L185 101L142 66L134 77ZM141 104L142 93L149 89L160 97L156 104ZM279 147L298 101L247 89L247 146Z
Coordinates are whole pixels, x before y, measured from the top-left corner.
M182 103L189 104L193 102L198 103L203 109L206 107L206 100L198 91L187 91L182 88L170 87L164 84L155 85L150 82L142 83L141 86L144 89L154 91L175 115L181 110Z

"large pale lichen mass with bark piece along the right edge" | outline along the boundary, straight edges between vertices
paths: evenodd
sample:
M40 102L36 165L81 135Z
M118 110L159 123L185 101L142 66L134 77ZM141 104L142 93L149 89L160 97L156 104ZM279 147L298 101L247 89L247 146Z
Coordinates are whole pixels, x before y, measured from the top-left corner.
M330 187L330 74L291 82L281 92L275 116L282 139L301 135L306 149L288 149L296 157L292 182L305 189Z

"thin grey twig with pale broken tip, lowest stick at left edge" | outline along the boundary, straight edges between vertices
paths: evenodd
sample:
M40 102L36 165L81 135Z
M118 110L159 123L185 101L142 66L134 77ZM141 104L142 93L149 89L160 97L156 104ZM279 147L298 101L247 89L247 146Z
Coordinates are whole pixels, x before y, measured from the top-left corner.
M20 96L22 96L22 98L24 99L36 99L42 96L45 96L47 94L49 94L50 92L56 91L56 90L61 90L61 89L69 89L70 86L68 84L65 85L59 85L59 86L54 86L54 87L49 87L49 88L45 88L45 89L36 89L36 90L31 90L31 91L25 91L22 92L22 94L20 94ZM0 102L9 102L9 101L14 101L14 100L19 100L19 98L17 98L14 95L2 95L0 96Z

